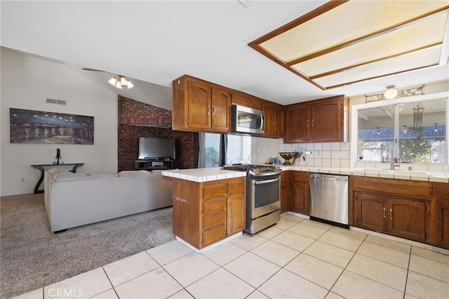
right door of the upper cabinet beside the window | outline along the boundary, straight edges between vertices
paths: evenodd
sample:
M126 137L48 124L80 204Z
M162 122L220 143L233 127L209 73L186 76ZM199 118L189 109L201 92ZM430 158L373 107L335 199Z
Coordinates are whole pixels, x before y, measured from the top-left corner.
M343 100L316 100L311 105L311 140L343 141Z

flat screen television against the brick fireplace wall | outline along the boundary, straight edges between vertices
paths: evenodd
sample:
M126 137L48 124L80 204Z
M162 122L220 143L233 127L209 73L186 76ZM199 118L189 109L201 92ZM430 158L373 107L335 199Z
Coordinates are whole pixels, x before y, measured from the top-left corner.
M140 137L139 160L174 160L175 138Z

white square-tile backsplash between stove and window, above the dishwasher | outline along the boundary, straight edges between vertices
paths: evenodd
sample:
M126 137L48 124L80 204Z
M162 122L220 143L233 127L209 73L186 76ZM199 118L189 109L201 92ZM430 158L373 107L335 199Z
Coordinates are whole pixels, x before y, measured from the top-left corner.
M298 166L351 168L349 145L349 142L283 143L279 138L279 152L307 152L305 161L303 157L296 159Z

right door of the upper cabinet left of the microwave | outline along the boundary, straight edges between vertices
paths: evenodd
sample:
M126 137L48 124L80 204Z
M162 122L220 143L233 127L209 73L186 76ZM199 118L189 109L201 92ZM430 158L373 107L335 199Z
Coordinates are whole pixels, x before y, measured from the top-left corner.
M223 88L212 88L212 114L210 128L215 131L231 131L231 93Z

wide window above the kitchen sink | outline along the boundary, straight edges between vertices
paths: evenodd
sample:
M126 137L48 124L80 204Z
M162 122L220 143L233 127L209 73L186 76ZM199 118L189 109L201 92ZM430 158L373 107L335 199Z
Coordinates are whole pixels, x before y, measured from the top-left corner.
M447 164L447 95L413 98L353 107L357 118L356 160Z

